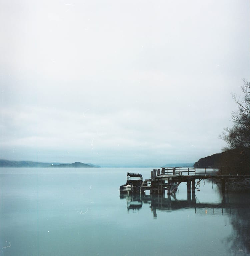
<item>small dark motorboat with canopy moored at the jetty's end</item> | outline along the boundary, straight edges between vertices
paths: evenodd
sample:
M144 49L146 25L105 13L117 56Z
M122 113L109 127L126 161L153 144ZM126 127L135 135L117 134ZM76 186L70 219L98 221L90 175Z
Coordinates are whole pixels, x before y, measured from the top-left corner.
M143 179L140 173L127 173L127 182L120 186L120 193L140 192Z

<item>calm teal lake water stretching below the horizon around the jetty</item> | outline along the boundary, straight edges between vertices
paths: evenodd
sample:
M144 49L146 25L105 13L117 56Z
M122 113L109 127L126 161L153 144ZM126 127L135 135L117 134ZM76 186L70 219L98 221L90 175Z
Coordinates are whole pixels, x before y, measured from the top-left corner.
M250 255L248 193L120 197L127 171L0 168L0 255Z

